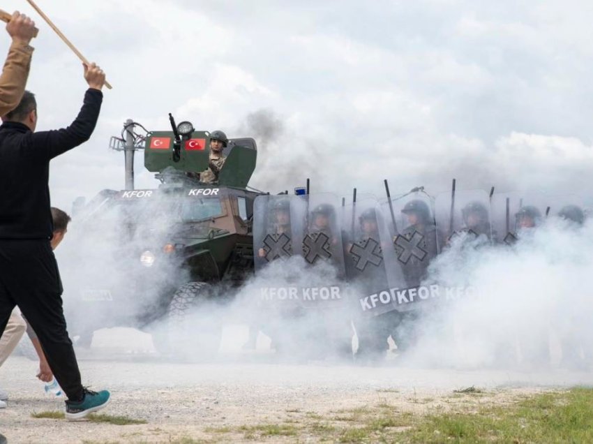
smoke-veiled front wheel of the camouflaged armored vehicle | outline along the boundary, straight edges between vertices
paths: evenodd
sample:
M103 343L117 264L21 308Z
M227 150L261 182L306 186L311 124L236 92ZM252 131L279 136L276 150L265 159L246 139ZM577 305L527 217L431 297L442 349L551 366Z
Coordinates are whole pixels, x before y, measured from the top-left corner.
M162 325L153 331L158 352L190 361L216 355L223 326L211 292L205 282L189 282L175 292Z

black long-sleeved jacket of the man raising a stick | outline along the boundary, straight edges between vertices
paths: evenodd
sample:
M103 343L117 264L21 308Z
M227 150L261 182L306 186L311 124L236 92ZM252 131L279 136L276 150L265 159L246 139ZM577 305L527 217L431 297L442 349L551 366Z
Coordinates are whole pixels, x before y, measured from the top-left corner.
M50 161L91 137L103 93L88 89L68 128L31 132L8 121L0 126L0 239L50 239Z

